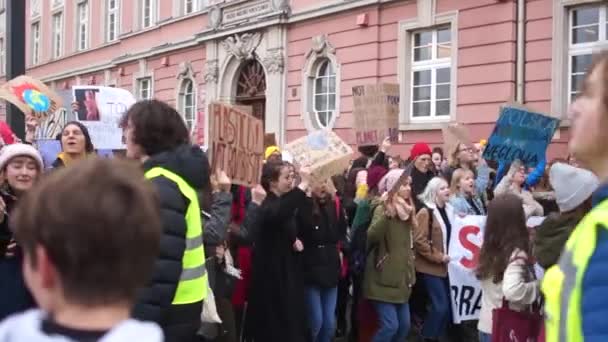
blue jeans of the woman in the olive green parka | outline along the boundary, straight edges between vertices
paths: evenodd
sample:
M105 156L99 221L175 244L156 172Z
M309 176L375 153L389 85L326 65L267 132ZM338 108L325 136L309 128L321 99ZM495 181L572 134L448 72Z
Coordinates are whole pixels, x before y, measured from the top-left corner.
M410 306L373 301L380 326L372 342L403 342L410 330Z

